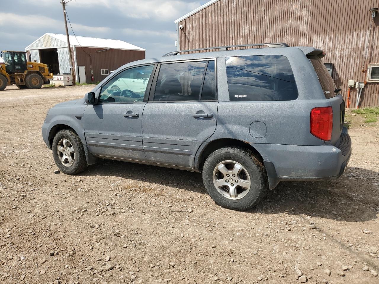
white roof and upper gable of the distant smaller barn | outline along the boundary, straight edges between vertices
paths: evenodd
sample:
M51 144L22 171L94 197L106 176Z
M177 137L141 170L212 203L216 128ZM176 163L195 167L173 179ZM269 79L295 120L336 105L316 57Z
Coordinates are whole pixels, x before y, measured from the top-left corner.
M85 36L69 36L70 45L82 46L82 47L99 47L99 48L116 48L125 50L146 50L136 45L130 44L125 41L119 41L116 39L99 39L96 37ZM67 37L65 34L51 34L45 33L39 37L36 41L28 45L25 50L39 49L39 48L55 48L55 47L67 47Z

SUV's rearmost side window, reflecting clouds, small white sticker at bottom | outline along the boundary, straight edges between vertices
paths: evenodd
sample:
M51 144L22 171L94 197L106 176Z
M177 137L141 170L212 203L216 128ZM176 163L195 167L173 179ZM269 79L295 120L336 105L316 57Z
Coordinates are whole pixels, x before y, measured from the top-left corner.
M230 101L289 101L298 98L290 62L283 55L226 58Z

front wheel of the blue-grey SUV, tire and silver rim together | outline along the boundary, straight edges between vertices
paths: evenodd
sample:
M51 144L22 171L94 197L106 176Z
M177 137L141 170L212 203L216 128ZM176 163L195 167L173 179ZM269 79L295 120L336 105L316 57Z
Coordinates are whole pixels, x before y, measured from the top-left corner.
M69 130L58 131L53 140L53 157L61 172L75 175L87 167L86 155L79 136Z

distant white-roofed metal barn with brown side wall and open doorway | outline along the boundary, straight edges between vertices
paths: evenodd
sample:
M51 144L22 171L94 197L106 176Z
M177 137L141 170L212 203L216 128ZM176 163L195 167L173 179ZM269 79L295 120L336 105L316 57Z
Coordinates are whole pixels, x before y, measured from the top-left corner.
M75 78L78 83L102 81L111 70L145 58L145 49L114 39L70 36ZM25 48L31 61L45 63L54 74L69 74L65 34L46 33Z

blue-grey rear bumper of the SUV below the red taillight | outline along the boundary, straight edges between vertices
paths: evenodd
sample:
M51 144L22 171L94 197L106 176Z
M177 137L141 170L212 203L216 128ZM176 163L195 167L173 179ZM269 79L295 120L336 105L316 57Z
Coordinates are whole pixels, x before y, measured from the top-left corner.
M315 181L341 176L349 163L351 139L341 134L338 146L251 144L262 155L270 189L279 181Z

